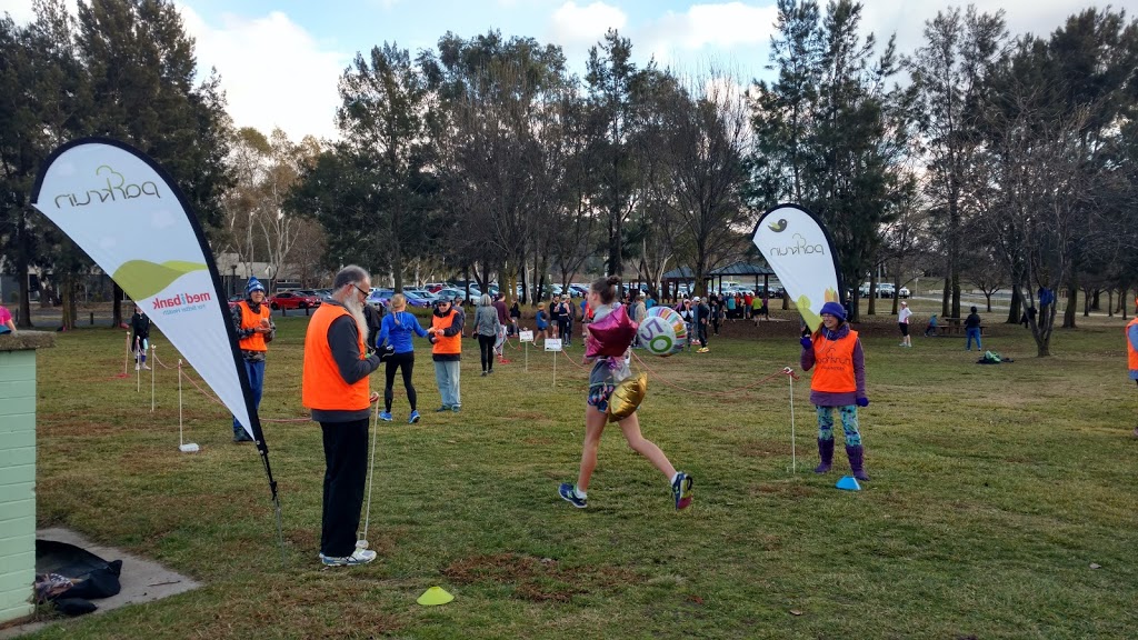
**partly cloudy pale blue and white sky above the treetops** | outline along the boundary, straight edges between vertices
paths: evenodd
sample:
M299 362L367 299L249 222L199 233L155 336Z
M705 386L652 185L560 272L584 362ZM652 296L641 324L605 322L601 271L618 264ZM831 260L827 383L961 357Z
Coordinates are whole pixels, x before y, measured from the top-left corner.
M1125 6L1135 0L1115 1ZM74 7L75 0L68 0ZM825 2L822 2L823 5ZM1003 9L1009 31L1046 35L1071 14L1094 6L1073 0L976 0ZM31 19L31 0L0 0L0 13ZM199 67L216 67L239 126L294 140L335 134L337 79L357 51L382 42L418 50L453 31L462 38L492 28L503 35L560 44L570 68L584 73L589 46L609 27L632 39L640 64L699 72L728 69L740 82L767 77L774 0L693 3L683 0L178 0L197 40ZM868 0L863 26L898 49L921 44L925 20L953 6L935 0ZM960 5L964 6L964 5ZM1105 5L1099 5L1105 6Z

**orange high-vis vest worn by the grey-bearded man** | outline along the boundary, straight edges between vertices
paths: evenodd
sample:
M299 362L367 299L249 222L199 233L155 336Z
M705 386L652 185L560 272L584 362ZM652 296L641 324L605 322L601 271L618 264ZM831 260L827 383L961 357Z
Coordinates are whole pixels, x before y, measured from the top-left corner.
M368 377L351 385L345 381L328 345L328 328L341 315L352 317L338 304L322 304L308 321L308 330L304 335L304 377L300 385L302 403L308 409L358 411L371 407ZM362 335L358 340L360 360L364 360L366 355Z

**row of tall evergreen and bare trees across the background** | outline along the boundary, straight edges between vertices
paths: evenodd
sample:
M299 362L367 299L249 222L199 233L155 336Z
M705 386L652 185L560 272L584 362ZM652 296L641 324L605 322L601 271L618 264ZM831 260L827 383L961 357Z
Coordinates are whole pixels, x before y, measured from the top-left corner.
M50 271L65 323L91 265L27 198L50 150L90 134L166 166L215 253L313 280L355 262L396 288L496 279L534 302L607 272L658 294L676 266L702 286L758 260L754 220L795 202L830 229L855 298L867 274L943 278L942 314L959 317L962 280L1009 288L1009 321L1038 311L1040 354L1079 292L1124 313L1138 284L1138 22L1121 10L1013 36L1003 11L948 7L899 52L864 32L860 3L778 0L760 81L637 65L617 31L584 76L559 47L495 31L385 42L339 80L338 138L294 142L233 125L167 0L34 9L0 20L0 243L6 271Z

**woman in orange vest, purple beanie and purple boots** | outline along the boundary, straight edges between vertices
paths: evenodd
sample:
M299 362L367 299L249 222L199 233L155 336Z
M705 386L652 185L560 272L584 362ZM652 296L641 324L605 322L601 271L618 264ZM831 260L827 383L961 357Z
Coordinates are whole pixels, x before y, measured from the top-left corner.
M834 415L836 408L846 432L846 454L850 470L859 481L865 473L861 434L858 433L857 408L868 407L865 395L865 354L857 331L846 323L846 310L836 302L822 305L822 326L813 336L803 336L801 364L814 369L810 379L810 402L818 411L818 456L822 463L814 473L825 474L834 461Z

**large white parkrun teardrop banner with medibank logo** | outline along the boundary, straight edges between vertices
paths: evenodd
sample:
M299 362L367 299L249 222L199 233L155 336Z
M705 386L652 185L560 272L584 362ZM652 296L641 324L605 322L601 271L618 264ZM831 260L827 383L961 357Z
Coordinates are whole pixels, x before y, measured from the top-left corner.
M253 436L280 501L213 252L174 180L133 147L73 140L47 159L32 205L142 307Z

